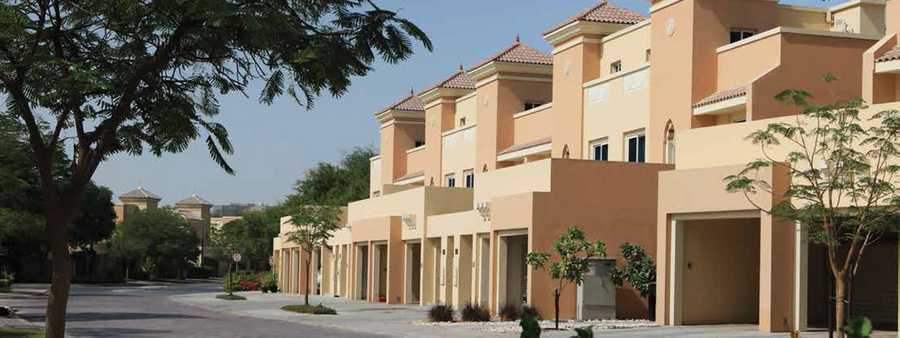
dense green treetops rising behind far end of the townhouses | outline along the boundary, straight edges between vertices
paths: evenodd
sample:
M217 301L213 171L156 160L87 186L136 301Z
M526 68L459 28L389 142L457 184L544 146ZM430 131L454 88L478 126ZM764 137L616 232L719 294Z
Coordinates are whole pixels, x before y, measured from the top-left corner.
M369 159L375 155L371 148L356 147L344 154L338 165L319 163L294 184L289 203L344 206L368 198Z

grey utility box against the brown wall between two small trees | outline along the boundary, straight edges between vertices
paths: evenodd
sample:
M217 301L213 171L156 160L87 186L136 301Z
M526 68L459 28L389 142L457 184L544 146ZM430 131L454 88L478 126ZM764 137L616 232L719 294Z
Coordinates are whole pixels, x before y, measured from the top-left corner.
M578 320L615 319L616 285L610 275L615 259L592 259L584 283L578 286L576 316Z

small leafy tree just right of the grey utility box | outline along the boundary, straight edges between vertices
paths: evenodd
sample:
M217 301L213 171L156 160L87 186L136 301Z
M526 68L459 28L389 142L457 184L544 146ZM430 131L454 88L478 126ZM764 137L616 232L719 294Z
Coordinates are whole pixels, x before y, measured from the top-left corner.
M628 283L641 294L641 297L647 299L647 318L652 319L653 303L650 301L650 295L656 286L656 263L653 263L653 257L638 245L623 243L620 249L625 264L613 268L610 277L617 286L621 287Z

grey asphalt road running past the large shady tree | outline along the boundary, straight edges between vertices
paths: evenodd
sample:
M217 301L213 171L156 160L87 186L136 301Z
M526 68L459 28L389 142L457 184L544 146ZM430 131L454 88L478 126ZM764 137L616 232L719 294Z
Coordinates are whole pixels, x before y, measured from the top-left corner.
M241 317L184 305L169 296L215 292L207 283L80 286L69 298L67 333L74 337L374 337L286 321ZM43 325L46 297L0 294L0 305Z

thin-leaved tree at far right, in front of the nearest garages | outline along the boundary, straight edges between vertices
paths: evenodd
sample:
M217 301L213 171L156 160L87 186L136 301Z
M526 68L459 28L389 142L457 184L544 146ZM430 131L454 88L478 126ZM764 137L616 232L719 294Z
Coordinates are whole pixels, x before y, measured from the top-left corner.
M775 98L801 113L747 137L760 147L762 158L726 177L726 189L742 192L754 203L751 195L775 191L773 182L757 175L759 170L787 172L780 202L770 209L754 205L793 221L810 242L824 245L834 282L836 331L843 335L848 295L866 248L886 231L897 230L900 112L881 111L863 119L860 111L866 107L860 99L813 104L812 95L802 90L786 90Z

